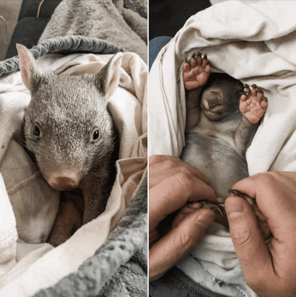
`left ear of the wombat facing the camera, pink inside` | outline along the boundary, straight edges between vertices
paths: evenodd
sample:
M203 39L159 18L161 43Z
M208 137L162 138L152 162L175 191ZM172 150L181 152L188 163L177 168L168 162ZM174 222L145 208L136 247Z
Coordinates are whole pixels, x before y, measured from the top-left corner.
M18 58L19 58L19 66L20 66L20 73L22 75L22 80L25 86L30 90L33 91L33 81L32 78L35 76L39 76L39 70L37 68L35 59L30 51L21 44L16 44Z

